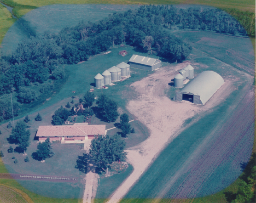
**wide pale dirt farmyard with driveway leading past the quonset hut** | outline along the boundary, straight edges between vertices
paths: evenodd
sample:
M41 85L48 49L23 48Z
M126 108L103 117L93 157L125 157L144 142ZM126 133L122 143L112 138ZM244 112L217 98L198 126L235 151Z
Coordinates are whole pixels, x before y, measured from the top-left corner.
M170 88L168 83L178 70L188 64L184 62L161 68L151 76L130 85L137 93L137 99L129 101L127 109L147 126L150 137L127 150L128 163L133 165L134 171L111 195L108 203L117 203L125 196L159 153L183 130L182 124L187 118L218 105L232 92L232 81L227 79L204 106L171 101L164 91ZM223 91L226 91L226 96L221 95Z

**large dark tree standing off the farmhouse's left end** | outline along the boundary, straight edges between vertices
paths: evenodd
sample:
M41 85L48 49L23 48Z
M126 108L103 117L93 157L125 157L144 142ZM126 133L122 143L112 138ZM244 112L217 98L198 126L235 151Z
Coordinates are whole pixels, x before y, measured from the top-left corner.
M23 121L18 121L15 128L12 129L12 135L10 135L10 139L16 141L19 149L24 153L30 144L30 131L26 130L26 127L27 125Z

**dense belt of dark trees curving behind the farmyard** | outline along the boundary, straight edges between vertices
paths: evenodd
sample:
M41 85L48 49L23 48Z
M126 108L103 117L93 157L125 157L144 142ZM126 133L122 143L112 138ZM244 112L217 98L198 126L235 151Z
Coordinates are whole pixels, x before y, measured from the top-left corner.
M40 94L51 91L55 80L64 78L61 64L86 61L89 56L124 42L141 51L151 51L169 62L181 62L191 53L192 47L163 28L174 26L246 34L233 17L219 9L154 5L114 13L97 23L80 22L58 34L46 32L36 36L32 33L11 56L0 56L0 95L14 90L18 93L18 101L30 103ZM33 85L37 88L29 87ZM5 111L0 111L0 119L9 118L2 112Z

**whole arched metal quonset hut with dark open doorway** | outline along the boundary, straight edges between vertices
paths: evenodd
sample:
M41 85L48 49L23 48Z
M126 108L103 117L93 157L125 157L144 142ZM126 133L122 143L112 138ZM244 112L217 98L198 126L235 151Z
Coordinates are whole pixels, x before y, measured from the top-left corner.
M204 71L193 79L180 92L176 93L175 101L190 101L204 105L224 84L224 79L214 71Z

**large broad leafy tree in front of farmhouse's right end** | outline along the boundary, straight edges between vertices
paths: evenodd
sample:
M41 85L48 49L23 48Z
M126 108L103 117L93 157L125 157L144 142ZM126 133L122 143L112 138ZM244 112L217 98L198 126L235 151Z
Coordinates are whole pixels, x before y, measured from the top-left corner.
M89 152L93 157L93 161L99 169L107 169L109 164L114 161L126 160L127 153L124 152L125 141L121 136L115 134L113 136L96 136L90 145Z

